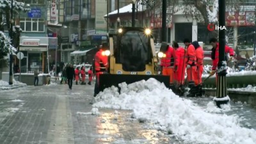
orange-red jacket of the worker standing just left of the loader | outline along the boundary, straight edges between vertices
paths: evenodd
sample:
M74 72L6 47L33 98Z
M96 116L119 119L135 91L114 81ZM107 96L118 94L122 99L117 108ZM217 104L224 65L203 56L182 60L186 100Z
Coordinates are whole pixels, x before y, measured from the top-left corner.
M95 72L106 71L108 68L108 56L102 54L102 49L96 52L94 57Z

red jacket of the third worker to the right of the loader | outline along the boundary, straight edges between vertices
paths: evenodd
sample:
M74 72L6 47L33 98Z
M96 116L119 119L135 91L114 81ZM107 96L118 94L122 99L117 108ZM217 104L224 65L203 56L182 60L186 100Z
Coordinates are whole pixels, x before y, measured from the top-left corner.
M194 45L189 44L185 56L186 65L196 65L196 50Z

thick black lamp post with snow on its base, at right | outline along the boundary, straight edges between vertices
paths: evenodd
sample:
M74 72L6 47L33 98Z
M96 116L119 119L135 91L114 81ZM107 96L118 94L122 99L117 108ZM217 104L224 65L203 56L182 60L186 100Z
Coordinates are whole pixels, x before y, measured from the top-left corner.
M223 28L225 26L225 0L219 0L219 24ZM230 101L227 96L227 61L225 60L225 29L219 29L219 61L218 61L218 79L217 79L217 91L214 101L216 106L221 108L221 104L228 104Z

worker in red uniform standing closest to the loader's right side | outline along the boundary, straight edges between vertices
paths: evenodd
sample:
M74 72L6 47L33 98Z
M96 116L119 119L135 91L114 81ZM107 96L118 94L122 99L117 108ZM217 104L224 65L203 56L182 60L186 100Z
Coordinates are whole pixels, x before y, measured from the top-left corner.
M161 58L160 66L163 76L170 76L170 88L173 86L173 65L174 65L174 49L170 45L166 45L166 51Z

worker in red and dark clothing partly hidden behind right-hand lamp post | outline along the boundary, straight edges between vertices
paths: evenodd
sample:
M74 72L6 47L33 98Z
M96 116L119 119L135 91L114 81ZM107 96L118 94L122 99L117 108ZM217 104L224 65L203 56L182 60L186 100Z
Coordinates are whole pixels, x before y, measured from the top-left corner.
M211 52L211 58L212 58L212 71L210 72L210 75L213 76L216 73L216 69L218 68L218 62L219 62L219 42L217 38L211 38L210 44L212 45L212 52ZM228 47L228 45L225 45L225 54L227 58L227 53L229 53L230 58L226 61L232 61L234 56L234 49L231 47ZM216 73L216 82L217 82L217 73Z

